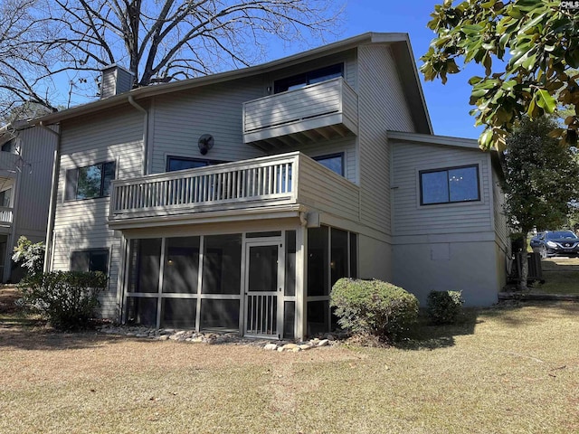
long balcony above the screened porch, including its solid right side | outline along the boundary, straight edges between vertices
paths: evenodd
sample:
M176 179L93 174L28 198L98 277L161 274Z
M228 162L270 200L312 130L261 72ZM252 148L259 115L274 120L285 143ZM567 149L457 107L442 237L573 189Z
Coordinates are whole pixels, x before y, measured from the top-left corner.
M109 225L175 224L255 212L330 212L358 219L359 188L299 152L117 179Z

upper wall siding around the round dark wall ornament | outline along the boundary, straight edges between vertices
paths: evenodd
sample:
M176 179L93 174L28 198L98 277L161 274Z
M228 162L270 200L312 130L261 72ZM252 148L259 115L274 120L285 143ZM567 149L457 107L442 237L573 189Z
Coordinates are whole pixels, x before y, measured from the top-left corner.
M243 144L242 104L264 95L265 86L258 77L158 97L149 131L151 173L166 171L166 156L224 161L263 156L259 149ZM214 147L206 156L197 147L204 134L214 137Z

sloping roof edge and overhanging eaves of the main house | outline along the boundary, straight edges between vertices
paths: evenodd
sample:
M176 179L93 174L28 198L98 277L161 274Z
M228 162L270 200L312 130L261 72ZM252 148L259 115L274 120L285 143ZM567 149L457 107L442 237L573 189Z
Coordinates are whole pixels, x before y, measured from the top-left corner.
M171 92L194 89L201 86L215 84L227 80L237 80L258 75L266 72L276 71L305 61L315 60L322 56L337 52L345 52L365 44L388 45L394 55L399 78L403 84L403 91L411 108L414 124L417 130L424 134L432 134L432 124L426 108L426 101L422 93L418 70L413 58L413 51L410 45L408 33L363 33L352 38L339 42L299 52L289 57L276 61L261 63L260 65L242 68L239 70L219 72L216 74L196 77L194 79L173 81L166 84L151 85L128 92L100 99L94 102L83 104L72 109L62 110L56 113L36 118L34 124L51 125L61 122L64 119L76 118L78 116L90 114L103 109L109 109L120 104L125 104L128 99L138 100L164 95Z

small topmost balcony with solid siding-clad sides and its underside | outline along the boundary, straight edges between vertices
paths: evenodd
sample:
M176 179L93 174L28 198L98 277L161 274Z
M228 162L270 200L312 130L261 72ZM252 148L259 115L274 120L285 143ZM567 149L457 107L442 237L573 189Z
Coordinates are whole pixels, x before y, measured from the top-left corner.
M341 77L243 104L243 141L264 150L357 131L358 97Z

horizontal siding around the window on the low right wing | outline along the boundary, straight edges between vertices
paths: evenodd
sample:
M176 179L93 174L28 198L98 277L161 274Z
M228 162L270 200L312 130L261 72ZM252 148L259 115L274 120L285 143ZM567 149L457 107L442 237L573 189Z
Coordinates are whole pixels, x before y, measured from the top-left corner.
M394 234L494 231L489 163L489 155L478 149L395 143ZM479 165L480 201L421 205L419 172L460 165Z

